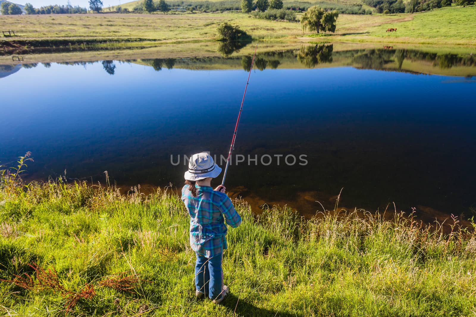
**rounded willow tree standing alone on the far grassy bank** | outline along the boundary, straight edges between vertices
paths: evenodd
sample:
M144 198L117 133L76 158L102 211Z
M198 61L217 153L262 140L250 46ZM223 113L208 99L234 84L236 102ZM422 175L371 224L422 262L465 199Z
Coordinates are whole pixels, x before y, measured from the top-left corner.
M337 10L326 11L319 6L310 7L304 12L301 18L301 26L303 31L335 32L336 20L339 16Z

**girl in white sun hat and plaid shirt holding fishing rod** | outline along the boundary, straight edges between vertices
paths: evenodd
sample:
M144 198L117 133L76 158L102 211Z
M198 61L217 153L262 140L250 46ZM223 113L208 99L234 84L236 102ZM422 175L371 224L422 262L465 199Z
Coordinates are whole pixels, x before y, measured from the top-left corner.
M221 168L208 153L192 155L185 172L182 200L190 215L190 247L197 255L195 265L195 296L208 296L219 304L228 295L228 286L223 285L221 262L223 250L227 249L227 226L233 228L241 223L241 217L233 207L225 186L212 189L211 179L217 177Z

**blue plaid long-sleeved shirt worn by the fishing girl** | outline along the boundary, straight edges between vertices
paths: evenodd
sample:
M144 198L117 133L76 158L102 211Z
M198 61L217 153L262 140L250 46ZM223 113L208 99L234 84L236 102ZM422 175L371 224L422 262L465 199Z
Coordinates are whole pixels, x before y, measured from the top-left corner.
M233 207L228 195L214 191L210 186L198 186L197 197L190 192L189 185L182 188L182 201L190 215L190 247L205 256L214 257L227 249L227 226L233 228L241 223L241 217Z

